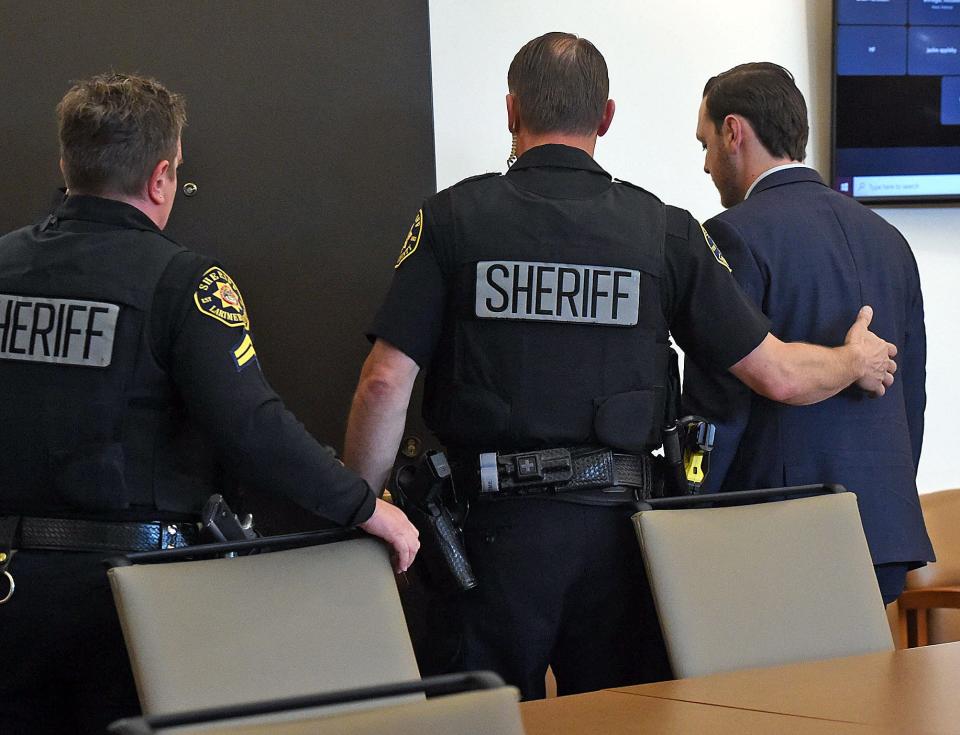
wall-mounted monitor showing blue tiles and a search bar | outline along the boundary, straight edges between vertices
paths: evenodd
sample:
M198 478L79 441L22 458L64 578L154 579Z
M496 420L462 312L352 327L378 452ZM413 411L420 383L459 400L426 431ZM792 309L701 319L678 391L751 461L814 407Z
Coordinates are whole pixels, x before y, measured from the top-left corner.
M835 0L833 186L960 201L960 0Z

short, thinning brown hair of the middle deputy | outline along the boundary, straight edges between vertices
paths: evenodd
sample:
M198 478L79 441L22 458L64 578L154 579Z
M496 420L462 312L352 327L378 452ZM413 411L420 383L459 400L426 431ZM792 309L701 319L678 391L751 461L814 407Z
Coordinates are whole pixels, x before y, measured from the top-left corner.
M596 132L610 82L596 47L572 33L546 33L513 57L507 85L532 133Z

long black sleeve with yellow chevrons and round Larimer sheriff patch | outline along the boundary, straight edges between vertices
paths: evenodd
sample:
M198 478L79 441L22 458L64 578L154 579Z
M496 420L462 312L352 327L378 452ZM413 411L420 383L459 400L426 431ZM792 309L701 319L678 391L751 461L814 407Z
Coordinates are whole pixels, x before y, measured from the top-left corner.
M341 525L373 513L367 484L288 411L260 370L243 298L221 269L183 253L161 279L158 360L191 420L236 478Z

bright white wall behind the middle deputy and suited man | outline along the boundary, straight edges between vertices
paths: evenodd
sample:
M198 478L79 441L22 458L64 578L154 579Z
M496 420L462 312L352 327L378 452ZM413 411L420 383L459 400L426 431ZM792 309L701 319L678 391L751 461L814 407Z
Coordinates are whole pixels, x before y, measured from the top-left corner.
M810 107L808 163L826 174L830 17L830 0L431 0L437 184L505 168L507 67L526 41L552 30L590 39L607 59L617 113L596 157L614 176L701 220L718 212L694 138L697 109L707 78L744 61L775 61L794 73ZM878 211L913 246L926 299L929 402L918 484L957 487L960 470L948 460L960 397L947 380L960 374L952 344L960 207Z

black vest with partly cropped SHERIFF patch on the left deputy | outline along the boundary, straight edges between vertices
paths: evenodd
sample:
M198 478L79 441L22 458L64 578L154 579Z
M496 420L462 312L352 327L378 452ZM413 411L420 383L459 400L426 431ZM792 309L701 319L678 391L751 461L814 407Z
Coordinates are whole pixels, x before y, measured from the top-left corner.
M215 472L148 333L180 252L146 225L54 216L0 239L0 513L202 507Z

